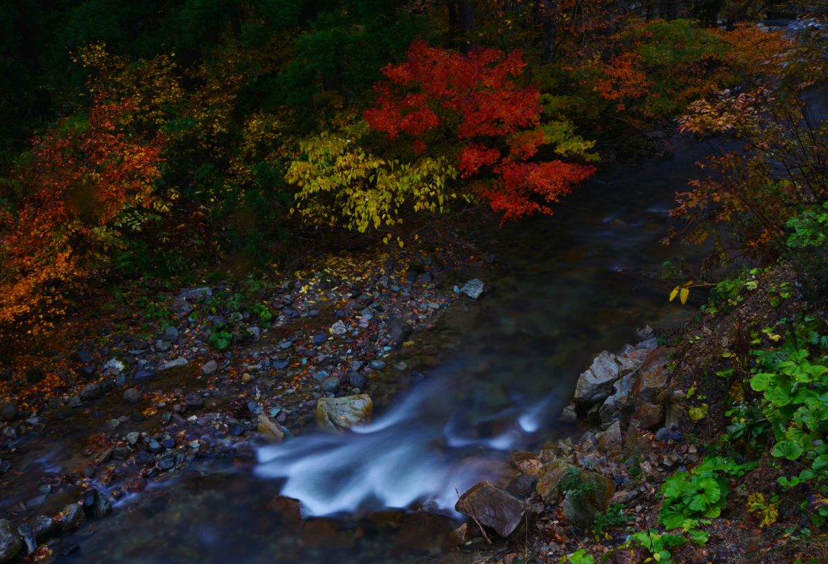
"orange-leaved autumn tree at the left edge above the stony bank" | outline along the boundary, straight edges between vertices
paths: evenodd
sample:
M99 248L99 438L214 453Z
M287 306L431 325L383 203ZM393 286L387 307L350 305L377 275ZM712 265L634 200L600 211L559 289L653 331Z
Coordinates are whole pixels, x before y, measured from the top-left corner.
M0 327L42 329L100 276L123 234L169 210L155 191L161 137L129 131L132 109L99 100L88 120L34 140L18 171L26 197L0 210Z

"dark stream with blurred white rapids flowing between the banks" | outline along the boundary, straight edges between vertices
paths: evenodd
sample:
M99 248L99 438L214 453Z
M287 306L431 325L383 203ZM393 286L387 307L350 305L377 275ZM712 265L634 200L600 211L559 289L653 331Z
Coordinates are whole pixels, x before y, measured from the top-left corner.
M75 533L82 550L72 558L416 561L378 517L392 513L377 510L426 504L450 516L458 492L503 478L513 450L575 431L556 418L591 355L619 349L647 323L685 318L651 274L687 252L659 240L674 193L696 174L703 152L685 145L671 160L614 166L554 217L488 234L482 247L502 268L469 276L483 278L489 292L421 334L442 351L439 364L371 424L263 447L254 468L214 465L148 489ZM300 499L306 516L335 520L316 519L301 533L286 528L268 508L278 493Z

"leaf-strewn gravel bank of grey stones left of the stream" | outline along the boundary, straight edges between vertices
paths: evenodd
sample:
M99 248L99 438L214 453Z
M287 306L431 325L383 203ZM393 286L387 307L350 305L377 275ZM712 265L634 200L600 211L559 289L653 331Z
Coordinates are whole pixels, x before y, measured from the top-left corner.
M263 443L368 421L427 378L439 350L417 335L484 292L461 269L493 261L350 253L253 297L205 285L76 320L61 350L2 374L0 562L68 555L61 534L182 472L249 467Z

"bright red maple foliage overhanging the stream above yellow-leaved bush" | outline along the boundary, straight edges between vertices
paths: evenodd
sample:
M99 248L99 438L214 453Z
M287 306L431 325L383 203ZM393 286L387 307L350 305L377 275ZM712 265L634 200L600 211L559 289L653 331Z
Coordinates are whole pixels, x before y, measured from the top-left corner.
M383 69L371 128L403 137L416 153L434 147L455 157L460 175L503 220L535 212L589 178L595 167L532 161L546 144L540 92L525 84L519 51L477 48L468 55L414 41L407 60Z

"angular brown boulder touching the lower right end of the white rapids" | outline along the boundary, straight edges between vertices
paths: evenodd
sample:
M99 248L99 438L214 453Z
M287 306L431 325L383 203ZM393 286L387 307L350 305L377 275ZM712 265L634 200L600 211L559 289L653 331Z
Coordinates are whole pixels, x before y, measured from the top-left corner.
M460 496L455 509L505 538L522 523L527 506L505 489L480 482Z

